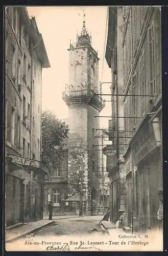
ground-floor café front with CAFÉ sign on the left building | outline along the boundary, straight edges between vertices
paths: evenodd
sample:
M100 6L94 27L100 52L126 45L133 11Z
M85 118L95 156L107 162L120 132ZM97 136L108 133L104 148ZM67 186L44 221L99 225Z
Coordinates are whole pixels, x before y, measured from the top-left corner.
M43 180L40 162L13 154L6 157L6 225L43 218Z

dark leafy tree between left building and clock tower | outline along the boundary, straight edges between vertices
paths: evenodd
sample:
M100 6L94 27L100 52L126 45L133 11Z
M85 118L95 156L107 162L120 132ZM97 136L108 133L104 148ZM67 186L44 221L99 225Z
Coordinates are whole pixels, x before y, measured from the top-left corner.
M68 137L68 126L51 111L44 111L42 122L42 163L49 168L59 167L64 139Z

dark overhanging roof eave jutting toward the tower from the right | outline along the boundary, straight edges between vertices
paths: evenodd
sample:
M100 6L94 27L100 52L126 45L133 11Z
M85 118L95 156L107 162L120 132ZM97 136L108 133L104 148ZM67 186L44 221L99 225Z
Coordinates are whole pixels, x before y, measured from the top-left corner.
M116 15L117 7L109 6L108 8L108 35L105 58L109 68L111 68L112 51L115 48L116 41Z

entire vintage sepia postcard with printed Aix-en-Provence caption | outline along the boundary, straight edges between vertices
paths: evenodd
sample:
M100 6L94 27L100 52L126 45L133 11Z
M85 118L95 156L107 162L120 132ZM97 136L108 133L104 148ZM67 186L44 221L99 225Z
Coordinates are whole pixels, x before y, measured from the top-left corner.
M161 7L4 15L6 251L162 251Z

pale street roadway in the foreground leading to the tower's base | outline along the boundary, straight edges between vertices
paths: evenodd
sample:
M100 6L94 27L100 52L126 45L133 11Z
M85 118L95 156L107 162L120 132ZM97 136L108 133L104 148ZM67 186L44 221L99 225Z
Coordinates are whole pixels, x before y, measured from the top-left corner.
M91 232L105 233L99 224L101 219L102 216L84 216L55 220L53 225L38 230L27 237L78 236L89 234Z

